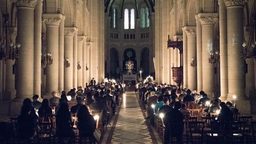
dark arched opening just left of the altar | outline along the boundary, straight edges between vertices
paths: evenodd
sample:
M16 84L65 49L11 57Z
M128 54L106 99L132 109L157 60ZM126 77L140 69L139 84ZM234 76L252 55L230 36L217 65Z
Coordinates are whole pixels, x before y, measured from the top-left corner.
M118 78L117 68L119 68L119 51L112 47L110 49L110 78Z

